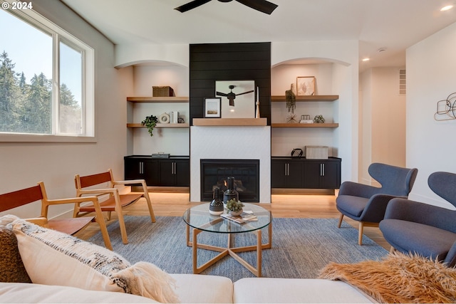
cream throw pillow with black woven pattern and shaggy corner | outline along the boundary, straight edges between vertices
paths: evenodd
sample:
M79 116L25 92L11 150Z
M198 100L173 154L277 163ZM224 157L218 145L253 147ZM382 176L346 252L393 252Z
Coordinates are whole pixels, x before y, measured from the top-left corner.
M132 266L107 248L22 219L9 226L33 283L133 293L162 303L178 301L174 279L151 263Z

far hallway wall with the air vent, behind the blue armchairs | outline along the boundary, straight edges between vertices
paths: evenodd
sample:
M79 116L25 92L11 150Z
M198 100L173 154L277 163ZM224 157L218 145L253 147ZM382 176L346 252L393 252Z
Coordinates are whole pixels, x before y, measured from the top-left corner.
M371 184L368 166L383 162L405 167L405 96L399 95L400 68L371 68L361 74L360 182Z

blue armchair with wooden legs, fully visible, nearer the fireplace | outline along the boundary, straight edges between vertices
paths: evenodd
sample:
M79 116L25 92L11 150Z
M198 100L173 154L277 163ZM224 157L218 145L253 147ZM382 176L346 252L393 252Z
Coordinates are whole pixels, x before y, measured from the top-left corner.
M418 169L408 169L374 162L368 172L381 187L356 182L343 182L336 198L336 207L341 212L338 228L343 216L359 221L358 244L363 243L365 226L377 227L385 216L386 206L395 197L407 198L415 183Z

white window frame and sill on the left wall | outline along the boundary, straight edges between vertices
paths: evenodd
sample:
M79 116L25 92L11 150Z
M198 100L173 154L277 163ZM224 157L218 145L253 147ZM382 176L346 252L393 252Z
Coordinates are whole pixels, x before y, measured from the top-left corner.
M0 0L0 4L4 1ZM0 132L0 142L96 142L95 137L95 50L88 44L79 40L60 26L49 21L38 14L33 9L8 10L6 14L12 14L30 26L35 26L38 30L48 33L53 39L53 75L52 75L52 133L51 134L31 134L31 133L8 133ZM58 132L58 116L60 101L60 43L77 48L82 53L82 92L81 92L81 114L83 123L83 133L68 135Z

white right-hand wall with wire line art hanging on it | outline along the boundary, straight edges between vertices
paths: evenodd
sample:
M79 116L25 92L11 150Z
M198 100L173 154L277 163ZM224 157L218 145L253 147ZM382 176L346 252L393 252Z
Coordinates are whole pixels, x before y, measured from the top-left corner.
M456 173L456 120L436 121L437 101L454 93L456 23L407 50L407 166L418 168L411 199L451 209L432 192L432 172Z

